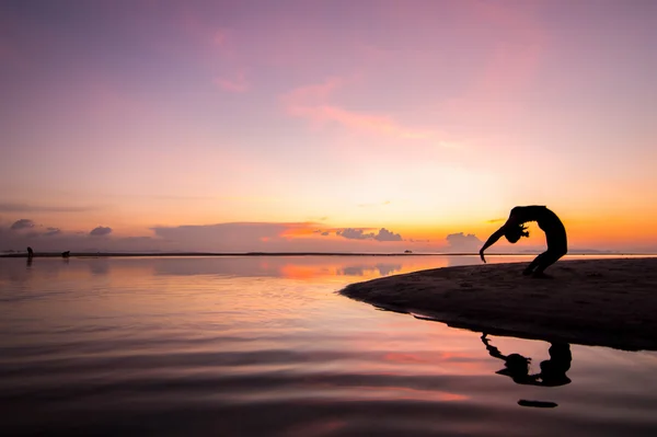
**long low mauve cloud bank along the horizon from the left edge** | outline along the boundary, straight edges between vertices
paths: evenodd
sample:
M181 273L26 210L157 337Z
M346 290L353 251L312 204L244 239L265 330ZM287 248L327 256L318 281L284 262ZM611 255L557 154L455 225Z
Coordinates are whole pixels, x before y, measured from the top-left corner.
M385 228L328 228L318 222L158 226L150 228L150 235L130 238L116 237L113 229L105 226L78 231L34 225L33 228L11 231L10 225L0 229L0 250L19 250L30 245L39 252L56 253L67 250L92 253L396 252L402 240L400 234Z

